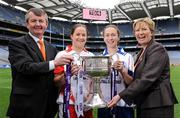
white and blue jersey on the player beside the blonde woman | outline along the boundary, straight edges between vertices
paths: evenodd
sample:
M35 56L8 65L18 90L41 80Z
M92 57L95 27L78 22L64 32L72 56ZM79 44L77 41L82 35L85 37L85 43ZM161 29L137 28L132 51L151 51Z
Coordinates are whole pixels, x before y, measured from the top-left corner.
M104 56L110 56L108 54L107 48L103 51ZM112 55L111 55L112 56ZM123 48L119 48L115 56L112 56L112 63L115 61L123 61L125 68L128 69L128 74L133 77L134 75L134 60L131 54L127 53L124 51ZM123 76L119 72L118 75L116 76L116 90L117 94L123 91L126 88L124 79L122 78ZM102 97L105 102L108 102L111 100L111 77L105 77L101 79L101 92L102 92ZM127 106L124 100L120 100L117 103L118 106Z

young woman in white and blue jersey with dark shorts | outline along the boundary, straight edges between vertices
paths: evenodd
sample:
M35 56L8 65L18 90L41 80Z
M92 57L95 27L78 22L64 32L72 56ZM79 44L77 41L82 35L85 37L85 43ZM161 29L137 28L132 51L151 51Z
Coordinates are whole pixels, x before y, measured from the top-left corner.
M120 31L115 25L107 25L103 30L104 42L106 48L103 55L112 57L112 68L116 72L116 80L112 76L103 78L100 87L102 91L103 100L108 102L111 97L124 90L132 81L134 73L133 57L125 52L123 48L119 48ZM112 80L114 81L112 85ZM112 89L114 87L114 89ZM113 91L114 90L114 91ZM111 94L113 93L113 96ZM133 118L134 110L132 106L127 105L123 100L117 103L113 109L99 108L99 118Z

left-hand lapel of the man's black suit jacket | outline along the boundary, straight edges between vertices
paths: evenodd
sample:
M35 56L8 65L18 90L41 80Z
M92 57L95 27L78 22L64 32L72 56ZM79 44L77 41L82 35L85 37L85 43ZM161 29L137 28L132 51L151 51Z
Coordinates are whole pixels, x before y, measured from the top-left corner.
M40 61L44 61L41 51L39 50L39 47L37 43L34 41L34 39L30 35L26 35L25 40L28 44L28 46L34 51L35 54L40 58Z

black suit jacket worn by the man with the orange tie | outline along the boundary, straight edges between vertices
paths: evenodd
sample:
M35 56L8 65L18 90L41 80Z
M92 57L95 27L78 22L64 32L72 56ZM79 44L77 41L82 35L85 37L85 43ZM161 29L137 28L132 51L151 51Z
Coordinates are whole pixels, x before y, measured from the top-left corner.
M54 86L49 60L57 50L45 41L47 61L30 35L9 42L12 91L7 116L12 118L53 118L58 89ZM46 111L48 109L48 111Z

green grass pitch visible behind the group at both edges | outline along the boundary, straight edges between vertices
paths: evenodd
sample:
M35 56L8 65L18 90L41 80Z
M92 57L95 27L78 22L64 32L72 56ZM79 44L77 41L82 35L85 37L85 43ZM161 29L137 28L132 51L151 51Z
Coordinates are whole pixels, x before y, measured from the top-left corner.
M180 67L171 67L171 82L174 87L175 94L180 102ZM6 118L10 88L10 69L0 69L0 118ZM180 118L180 104L175 105L175 118Z

